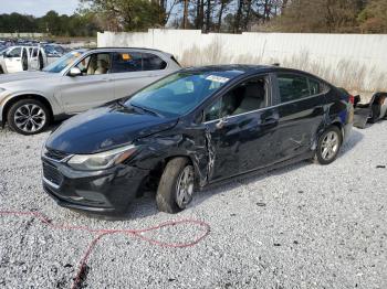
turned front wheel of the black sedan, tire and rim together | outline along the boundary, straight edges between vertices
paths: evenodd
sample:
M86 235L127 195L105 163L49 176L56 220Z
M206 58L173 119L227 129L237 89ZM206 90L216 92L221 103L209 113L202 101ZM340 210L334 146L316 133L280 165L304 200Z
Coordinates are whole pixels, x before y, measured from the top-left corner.
M187 182L184 181L185 175L188 175ZM169 214L179 213L191 202L194 189L195 171L189 160L187 158L170 160L163 172L157 189L158 210ZM182 195L184 197L181 197Z

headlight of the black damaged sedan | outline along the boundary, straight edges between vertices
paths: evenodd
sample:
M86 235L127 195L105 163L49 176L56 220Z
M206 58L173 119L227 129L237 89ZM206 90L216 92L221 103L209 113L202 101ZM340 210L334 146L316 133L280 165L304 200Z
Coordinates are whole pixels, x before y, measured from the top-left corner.
M67 164L76 170L98 171L122 163L135 151L135 146L130 144L94 154L75 154L67 161Z

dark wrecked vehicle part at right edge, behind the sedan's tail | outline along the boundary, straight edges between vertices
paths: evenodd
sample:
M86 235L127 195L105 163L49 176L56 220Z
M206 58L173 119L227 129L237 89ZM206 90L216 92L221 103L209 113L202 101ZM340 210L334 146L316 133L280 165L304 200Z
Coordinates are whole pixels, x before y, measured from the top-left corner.
M376 93L368 104L360 104L360 97L355 97L354 126L365 128L387 117L387 93Z

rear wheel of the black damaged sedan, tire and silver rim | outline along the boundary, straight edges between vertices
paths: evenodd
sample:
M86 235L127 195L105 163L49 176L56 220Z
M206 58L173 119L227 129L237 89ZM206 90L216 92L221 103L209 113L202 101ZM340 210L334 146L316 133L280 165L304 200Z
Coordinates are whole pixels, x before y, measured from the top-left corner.
M334 162L338 156L342 143L342 131L335 126L328 127L318 139L314 161L322 165Z

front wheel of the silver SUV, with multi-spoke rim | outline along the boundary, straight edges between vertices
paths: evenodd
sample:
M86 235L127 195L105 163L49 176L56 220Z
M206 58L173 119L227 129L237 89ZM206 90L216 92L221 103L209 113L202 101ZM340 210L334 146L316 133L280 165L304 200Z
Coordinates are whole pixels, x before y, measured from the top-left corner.
M21 99L14 103L7 114L10 128L24 136L44 131L50 120L49 108L35 99Z

